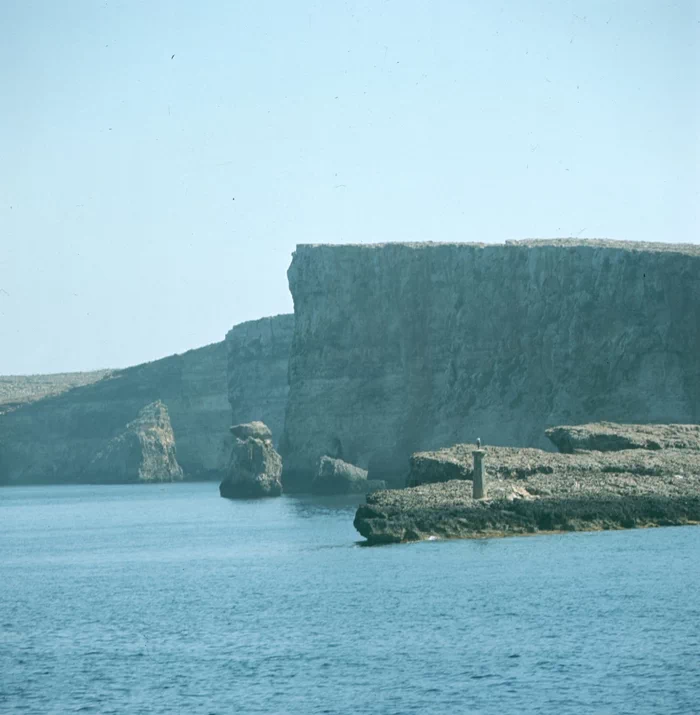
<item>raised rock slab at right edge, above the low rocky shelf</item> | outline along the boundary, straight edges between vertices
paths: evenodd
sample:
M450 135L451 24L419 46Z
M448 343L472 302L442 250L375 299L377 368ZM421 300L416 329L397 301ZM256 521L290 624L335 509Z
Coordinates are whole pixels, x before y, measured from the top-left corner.
M545 430L545 434L560 452L565 453L670 447L700 450L700 425L619 425L598 422L551 427Z

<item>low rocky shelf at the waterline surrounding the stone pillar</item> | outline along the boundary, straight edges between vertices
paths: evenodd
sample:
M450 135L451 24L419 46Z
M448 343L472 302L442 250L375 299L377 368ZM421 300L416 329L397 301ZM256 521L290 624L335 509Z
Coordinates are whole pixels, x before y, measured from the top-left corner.
M468 481L473 449L457 445L425 455L424 469L430 459L438 471L462 461L467 477L374 492L358 508L355 528L368 543L381 544L700 523L698 452L557 454L489 447L488 498L474 500Z

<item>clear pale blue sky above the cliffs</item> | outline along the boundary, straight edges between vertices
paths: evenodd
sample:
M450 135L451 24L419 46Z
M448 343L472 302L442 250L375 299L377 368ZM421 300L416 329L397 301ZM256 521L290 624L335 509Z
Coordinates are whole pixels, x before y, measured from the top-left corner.
M298 243L700 241L696 0L3 0L0 374L291 312Z

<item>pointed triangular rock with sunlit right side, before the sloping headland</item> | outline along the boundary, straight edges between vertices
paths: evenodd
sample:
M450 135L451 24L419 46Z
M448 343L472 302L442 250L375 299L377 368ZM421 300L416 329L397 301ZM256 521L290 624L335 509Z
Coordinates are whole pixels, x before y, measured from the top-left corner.
M93 484L173 482L183 478L168 408L146 405L124 431L90 461L81 480Z

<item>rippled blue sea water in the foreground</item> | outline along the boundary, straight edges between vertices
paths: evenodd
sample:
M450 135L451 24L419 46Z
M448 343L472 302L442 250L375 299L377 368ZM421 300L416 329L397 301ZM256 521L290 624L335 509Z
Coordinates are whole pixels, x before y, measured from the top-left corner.
M700 713L700 528L363 548L357 502L0 490L0 712Z

